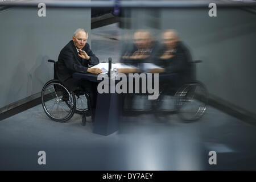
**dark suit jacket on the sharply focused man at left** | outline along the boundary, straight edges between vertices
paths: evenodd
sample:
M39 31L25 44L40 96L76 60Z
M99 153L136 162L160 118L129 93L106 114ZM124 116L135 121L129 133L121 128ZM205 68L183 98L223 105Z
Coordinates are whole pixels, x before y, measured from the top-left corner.
M72 74L75 72L86 73L89 64L96 65L99 63L98 57L96 57L90 50L88 43L85 44L85 47L82 48L82 50L90 56L89 60L82 59L78 55L73 40L61 49L57 63L58 78L61 82L65 82L69 78L72 78Z

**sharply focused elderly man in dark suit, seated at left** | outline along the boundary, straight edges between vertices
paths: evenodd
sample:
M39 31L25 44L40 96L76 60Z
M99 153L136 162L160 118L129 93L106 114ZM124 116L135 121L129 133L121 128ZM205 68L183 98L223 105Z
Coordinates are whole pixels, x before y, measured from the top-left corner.
M90 46L86 43L88 33L84 29L77 29L74 32L72 40L60 51L57 64L57 72L59 80L69 90L86 90L90 94L92 110L96 107L97 85L87 80L75 80L72 74L80 73L101 73L101 69L89 68L90 65L99 63L96 57L90 50Z

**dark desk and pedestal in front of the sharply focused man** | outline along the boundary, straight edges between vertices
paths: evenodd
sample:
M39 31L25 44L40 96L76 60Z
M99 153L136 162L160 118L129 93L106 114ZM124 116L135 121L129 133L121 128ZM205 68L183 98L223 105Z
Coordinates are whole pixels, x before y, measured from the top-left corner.
M98 75L92 73L73 73L72 76L77 80L85 79L100 82L100 80L97 80ZM121 106L117 93L97 93L93 133L109 135L117 131L120 109Z

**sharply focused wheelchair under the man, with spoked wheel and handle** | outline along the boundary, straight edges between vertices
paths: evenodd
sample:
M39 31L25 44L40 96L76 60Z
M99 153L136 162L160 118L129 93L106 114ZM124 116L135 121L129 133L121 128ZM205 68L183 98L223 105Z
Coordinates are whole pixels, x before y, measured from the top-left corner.
M42 106L49 118L57 122L65 122L74 113L82 114L82 124L85 125L86 115L90 111L90 96L82 90L69 90L57 79L57 62L54 63L54 79L48 81L41 92Z

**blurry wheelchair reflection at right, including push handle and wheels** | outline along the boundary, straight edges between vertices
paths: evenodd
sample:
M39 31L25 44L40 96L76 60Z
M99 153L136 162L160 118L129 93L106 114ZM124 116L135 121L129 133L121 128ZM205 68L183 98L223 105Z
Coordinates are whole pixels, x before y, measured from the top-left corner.
M194 61L190 63L188 71L188 79L192 81L183 81L176 86L170 86L170 81L166 81L165 84L159 85L159 97L157 100L147 101L151 102L151 109L137 112L131 110L134 113L154 113L158 121L168 121L168 117L171 114L177 113L178 116L184 121L195 121L200 119L207 109L208 103L208 91L203 83L195 80L196 67L195 63L201 61ZM168 77L168 74L167 74ZM159 75L159 80L161 76ZM127 100L127 99L126 99Z

